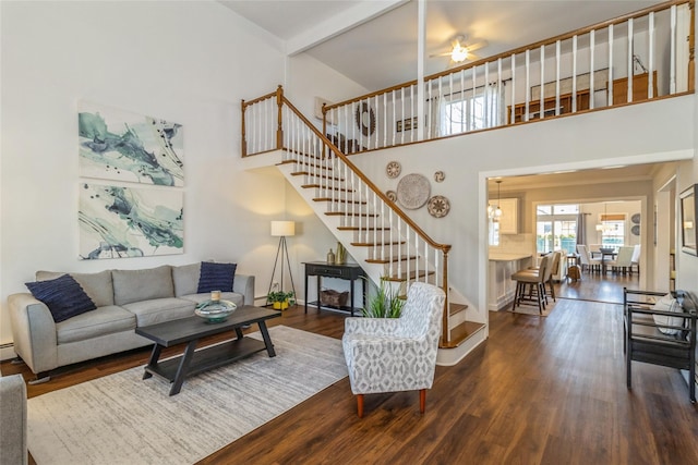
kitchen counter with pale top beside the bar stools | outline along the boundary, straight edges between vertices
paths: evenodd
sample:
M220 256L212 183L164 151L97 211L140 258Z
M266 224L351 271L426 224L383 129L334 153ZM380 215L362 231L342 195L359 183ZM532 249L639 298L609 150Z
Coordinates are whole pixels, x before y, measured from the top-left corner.
M512 274L532 265L533 255L526 253L490 253L488 307L492 311L505 309L514 302L516 282Z

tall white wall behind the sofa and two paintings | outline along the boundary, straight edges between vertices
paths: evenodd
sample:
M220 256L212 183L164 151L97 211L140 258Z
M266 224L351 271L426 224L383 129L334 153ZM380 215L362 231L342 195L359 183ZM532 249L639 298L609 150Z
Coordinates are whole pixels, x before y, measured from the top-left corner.
M278 39L213 1L0 8L0 343L12 339L7 296L25 292L24 282L39 269L93 272L231 259L239 272L257 277L255 295L265 295L277 246L269 221L306 211L294 210L296 194L275 168L236 169L240 101L285 82L302 108L317 95L314 81L324 83L328 98L365 89L312 60L287 69ZM183 125L183 255L77 259L81 99ZM326 229L314 230L312 221L304 229L311 247L301 257L323 257L334 243Z

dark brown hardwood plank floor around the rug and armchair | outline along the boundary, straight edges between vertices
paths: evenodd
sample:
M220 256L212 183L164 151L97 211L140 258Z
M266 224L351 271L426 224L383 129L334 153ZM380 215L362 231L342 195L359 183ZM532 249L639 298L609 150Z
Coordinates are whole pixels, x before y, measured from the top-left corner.
M587 278L580 283L607 285ZM563 284L559 295L586 295L581 284ZM591 301L558 298L546 318L490 313L489 340L458 365L436 367L424 415L417 392L400 392L366 395L359 419L345 378L201 463L698 463L698 412L683 377L634 363L628 391L622 306ZM344 329L344 316L301 307L272 322L334 338ZM147 356L135 351L71 367L28 392L143 365ZM1 369L29 378L21 365Z

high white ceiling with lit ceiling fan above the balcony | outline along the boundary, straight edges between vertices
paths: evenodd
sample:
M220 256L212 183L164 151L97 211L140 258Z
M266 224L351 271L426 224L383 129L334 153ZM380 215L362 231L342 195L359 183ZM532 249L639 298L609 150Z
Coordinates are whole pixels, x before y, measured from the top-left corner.
M417 78L416 0L220 0L287 44L305 51L370 91ZM445 70L456 35L486 40L490 57L661 1L428 0L425 74Z

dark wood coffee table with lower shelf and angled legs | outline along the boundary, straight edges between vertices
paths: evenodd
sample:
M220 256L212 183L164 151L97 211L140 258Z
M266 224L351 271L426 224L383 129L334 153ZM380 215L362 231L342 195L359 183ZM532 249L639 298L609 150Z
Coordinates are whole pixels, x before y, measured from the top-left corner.
M275 357L276 352L274 352L274 344L265 321L280 316L280 311L245 305L238 308L224 322L209 323L203 318L193 316L136 328L136 334L155 341L143 379L158 375L169 380L172 383L170 395L174 395L179 394L184 379L190 376L230 364L265 348L269 357ZM258 325L264 342L242 334L242 327L253 323ZM201 339L226 331L234 331L238 338L196 351L196 344ZM183 342L188 343L184 354L158 362L164 347Z

